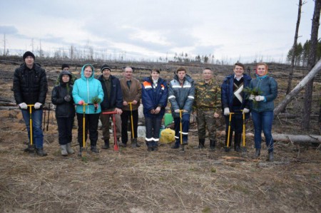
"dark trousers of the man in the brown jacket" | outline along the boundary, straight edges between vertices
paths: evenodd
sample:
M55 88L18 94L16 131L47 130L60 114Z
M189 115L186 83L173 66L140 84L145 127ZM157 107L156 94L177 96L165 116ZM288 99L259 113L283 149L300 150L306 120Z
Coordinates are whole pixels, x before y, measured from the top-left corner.
M137 138L138 110L133 110L132 113L133 113L133 132L134 132L135 138ZM123 113L121 113L121 142L123 143L128 142L128 134L127 134L128 120L131 123L131 111L123 110ZM133 133L131 133L131 138L133 138Z

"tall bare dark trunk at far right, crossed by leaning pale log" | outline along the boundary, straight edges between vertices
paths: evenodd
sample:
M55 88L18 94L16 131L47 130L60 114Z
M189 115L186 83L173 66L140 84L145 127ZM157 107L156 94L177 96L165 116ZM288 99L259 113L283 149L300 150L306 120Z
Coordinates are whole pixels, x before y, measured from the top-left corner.
M321 11L321 0L315 0L315 11L313 12L312 18L312 29L311 29L311 46L309 58L307 61L307 67L311 70L315 66L315 61L317 58L317 31L319 30L320 24L320 11ZM307 86L305 87L305 103L302 110L302 130L310 129L310 114L311 114L311 105L312 105L312 89L313 89L313 80L309 80Z

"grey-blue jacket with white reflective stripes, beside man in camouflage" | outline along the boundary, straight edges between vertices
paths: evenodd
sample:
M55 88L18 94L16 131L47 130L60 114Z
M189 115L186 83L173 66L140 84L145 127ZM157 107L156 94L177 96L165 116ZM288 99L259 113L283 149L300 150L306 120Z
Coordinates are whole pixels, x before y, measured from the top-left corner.
M195 95L194 80L186 75L183 85L180 85L178 76L175 75L173 80L170 80L168 88L168 100L170 102L170 110L174 118L179 118L180 113L175 113L175 110L186 110L190 114L193 108Z

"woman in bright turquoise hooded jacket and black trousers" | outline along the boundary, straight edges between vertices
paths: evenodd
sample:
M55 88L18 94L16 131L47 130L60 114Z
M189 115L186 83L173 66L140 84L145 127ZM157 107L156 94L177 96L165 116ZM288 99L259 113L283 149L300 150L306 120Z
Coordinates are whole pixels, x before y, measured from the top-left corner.
M78 120L78 143L80 146L79 155L83 152L83 105L85 107L85 141L89 131L91 140L91 151L98 153L98 120L101 113L100 103L93 103L93 98L103 100L103 88L101 82L94 78L94 69L91 64L86 64L81 68L81 78L77 79L73 85L73 100L77 104L76 115ZM100 101L101 102L101 101ZM87 105L88 104L88 105Z

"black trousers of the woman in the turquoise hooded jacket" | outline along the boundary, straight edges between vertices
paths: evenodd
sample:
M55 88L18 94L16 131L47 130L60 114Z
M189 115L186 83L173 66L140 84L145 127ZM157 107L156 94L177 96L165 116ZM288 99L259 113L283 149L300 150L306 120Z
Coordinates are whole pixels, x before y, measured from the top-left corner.
M78 120L78 143L80 147L83 147L83 113L76 113ZM85 114L85 142L87 140L87 134L89 130L89 139L91 140L91 146L96 146L98 140L98 120L99 113Z

